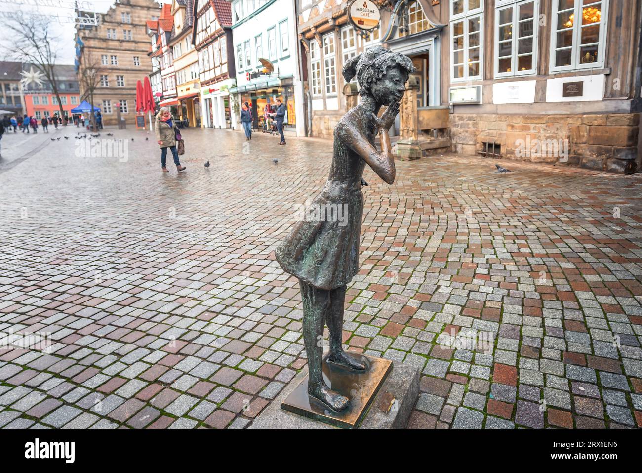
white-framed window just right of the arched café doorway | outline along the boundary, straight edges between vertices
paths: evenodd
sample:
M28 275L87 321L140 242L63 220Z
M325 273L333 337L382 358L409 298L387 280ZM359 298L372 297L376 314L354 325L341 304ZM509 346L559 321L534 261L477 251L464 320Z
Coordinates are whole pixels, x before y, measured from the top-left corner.
M455 1L456 0L453 0L453 3L455 3ZM472 2L473 0L468 1ZM452 82L482 78L482 26L482 13L450 22L452 39L452 47L450 50Z

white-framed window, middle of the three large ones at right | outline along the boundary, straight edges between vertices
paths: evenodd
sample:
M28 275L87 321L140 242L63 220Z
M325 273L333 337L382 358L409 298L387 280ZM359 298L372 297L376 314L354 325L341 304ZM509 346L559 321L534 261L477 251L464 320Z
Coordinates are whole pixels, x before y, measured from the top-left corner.
M538 14L539 0L514 1L495 9L496 77L537 73Z

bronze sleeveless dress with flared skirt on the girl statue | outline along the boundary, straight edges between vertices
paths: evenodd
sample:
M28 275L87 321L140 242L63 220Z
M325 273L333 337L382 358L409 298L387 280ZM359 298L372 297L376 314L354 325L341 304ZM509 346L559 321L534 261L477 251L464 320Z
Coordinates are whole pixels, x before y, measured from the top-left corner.
M374 146L374 127L370 119L361 117L359 107L355 107L334 128L330 175L323 190L306 209L306 216L309 216L324 204L334 206L335 210L341 206L343 222L340 219L302 220L275 251L277 262L284 271L318 289L345 285L359 271L363 218L361 175L366 163L347 146L348 127L364 130L364 138Z

